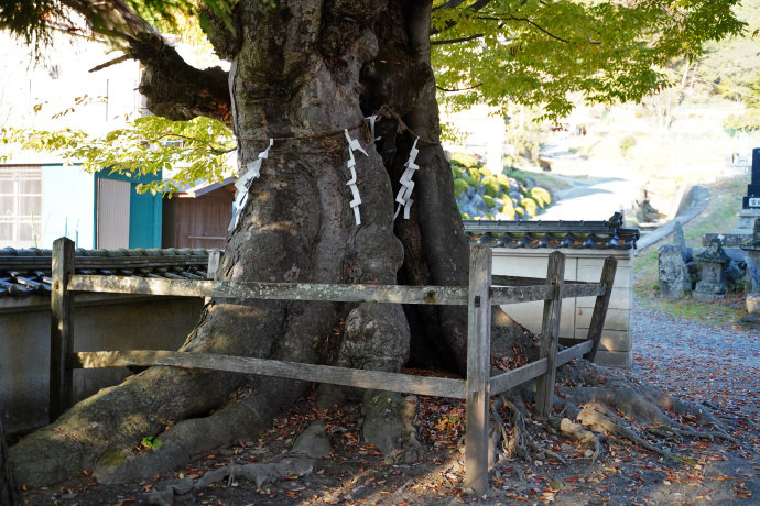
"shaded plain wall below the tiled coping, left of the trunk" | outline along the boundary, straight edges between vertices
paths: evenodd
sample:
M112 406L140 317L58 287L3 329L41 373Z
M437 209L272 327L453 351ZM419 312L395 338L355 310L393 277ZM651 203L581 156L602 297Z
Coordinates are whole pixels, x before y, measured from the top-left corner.
M176 350L195 327L200 298L79 294L74 351ZM0 417L8 435L47 424L50 298L0 299ZM75 399L129 376L127 369L77 370Z

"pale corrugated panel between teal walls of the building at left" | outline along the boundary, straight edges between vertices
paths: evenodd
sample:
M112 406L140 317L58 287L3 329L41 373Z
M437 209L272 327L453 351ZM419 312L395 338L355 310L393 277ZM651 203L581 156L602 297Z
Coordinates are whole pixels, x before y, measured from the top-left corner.
M98 248L129 248L129 182L98 179Z

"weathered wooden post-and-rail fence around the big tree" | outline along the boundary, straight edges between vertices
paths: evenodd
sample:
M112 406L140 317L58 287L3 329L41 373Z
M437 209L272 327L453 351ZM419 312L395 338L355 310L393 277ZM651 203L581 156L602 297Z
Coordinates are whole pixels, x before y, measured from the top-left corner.
M240 283L75 274L74 243L62 238L53 246L51 299L51 420L72 404L75 369L169 365L242 374L276 376L359 388L378 388L467 400L466 486L488 488L489 397L536 381L536 413L549 416L556 369L573 359L594 360L612 292L617 260L606 258L599 283L565 282L565 257L550 254L546 278L493 276L491 249L470 250L469 286L326 285L302 283ZM303 364L241 356L172 351L73 351L73 293L107 292L185 297L322 300L344 302L431 304L468 307L467 378L421 377L329 365ZM562 299L596 297L586 341L557 351ZM522 367L493 373L490 369L491 306L544 300L540 359Z

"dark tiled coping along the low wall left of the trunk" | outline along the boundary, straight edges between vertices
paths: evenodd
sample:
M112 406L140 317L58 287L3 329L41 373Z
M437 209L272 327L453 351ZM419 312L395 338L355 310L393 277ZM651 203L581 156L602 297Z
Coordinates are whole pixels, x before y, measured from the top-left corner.
M210 250L75 250L77 274L206 279ZM0 248L0 297L47 295L52 251Z

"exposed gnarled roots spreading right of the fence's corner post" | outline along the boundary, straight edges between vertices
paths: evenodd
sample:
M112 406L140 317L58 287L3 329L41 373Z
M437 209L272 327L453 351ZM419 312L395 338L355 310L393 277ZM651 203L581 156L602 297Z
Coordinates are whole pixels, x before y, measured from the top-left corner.
M544 427L552 435L577 441L591 450L593 463L602 457L604 436L620 438L621 442L673 461L682 461L683 458L648 435L662 439L706 438L738 443L706 405L684 403L630 376L586 361L563 369L557 376L563 383L557 387L555 398L555 413L560 415L546 420ZM520 405L529 404L523 400L524 392L504 395L517 398L512 402L499 398L491 406L492 410L506 411L504 451L523 460L539 453L565 463L562 454L533 441L540 439L533 432L541 425L526 422L530 415L523 415L519 409ZM692 425L687 426L683 420Z

